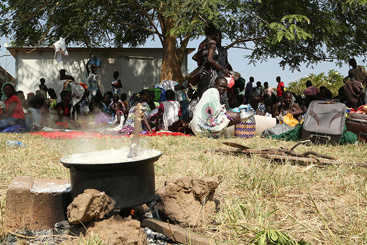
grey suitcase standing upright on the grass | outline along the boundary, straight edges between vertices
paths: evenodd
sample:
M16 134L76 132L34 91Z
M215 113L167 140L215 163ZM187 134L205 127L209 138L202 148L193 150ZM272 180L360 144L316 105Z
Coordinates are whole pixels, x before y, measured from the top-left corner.
M340 143L346 106L338 102L312 101L303 121L303 139L312 142Z

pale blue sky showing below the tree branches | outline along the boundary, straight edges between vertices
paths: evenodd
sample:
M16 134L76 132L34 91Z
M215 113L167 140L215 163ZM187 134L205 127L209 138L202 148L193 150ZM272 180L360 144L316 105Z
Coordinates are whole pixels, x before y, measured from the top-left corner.
M199 39L190 41L188 47L196 48L199 46L199 43L204 39L201 37ZM158 40L158 38L156 39ZM57 40L55 40L57 41ZM6 47L4 47L4 43L7 42L6 37L0 37L0 56L6 55ZM223 46L225 44L229 44L229 40L222 40ZM150 41L148 40L144 46L142 47L162 47L159 41ZM197 50L196 50L197 51ZM194 70L197 65L194 60L192 60L192 56L196 53L193 52L188 57L188 69L189 72ZM349 66L343 65L341 68L336 66L335 62L320 62L317 65L313 65L306 67L305 64L301 66L301 71L295 70L292 72L289 67L285 67L283 70L282 67L279 67L279 62L281 61L280 58L277 59L268 59L268 62L257 62L256 66L253 64L248 65L248 60L244 58L246 54L249 54L250 51L244 50L242 48L230 48L228 50L228 61L232 65L233 70L240 72L241 76L248 81L249 77L254 77L255 82L260 81L261 83L268 82L269 86L276 87L277 83L275 78L277 76L281 77L281 80L284 82L285 86L291 82L295 81L295 79L300 79L303 77L308 76L310 73L313 74L320 74L321 72L327 72L330 69L335 69L339 71L341 74L347 76ZM9 54L9 53L8 53ZM357 64L360 64L361 60L357 60ZM0 65L4 68L7 68L8 72L15 77L15 59L13 56L5 56L0 57Z

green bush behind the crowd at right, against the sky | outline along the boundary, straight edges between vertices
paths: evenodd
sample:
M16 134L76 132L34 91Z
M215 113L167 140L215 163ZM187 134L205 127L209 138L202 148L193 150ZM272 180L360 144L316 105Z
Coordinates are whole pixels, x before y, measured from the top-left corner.
M324 72L319 75L310 74L307 77L301 78L297 81L292 81L286 87L286 90L290 90L296 94L303 95L303 90L306 88L306 81L310 80L312 82L313 87L320 88L321 86L325 86L328 88L333 96L338 94L338 89L344 85L343 76L337 72L336 70L329 70L328 75L326 76Z

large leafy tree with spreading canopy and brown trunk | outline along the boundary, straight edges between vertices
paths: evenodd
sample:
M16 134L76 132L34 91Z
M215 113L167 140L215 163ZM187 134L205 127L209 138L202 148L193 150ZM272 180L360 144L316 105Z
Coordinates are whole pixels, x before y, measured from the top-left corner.
M0 7L0 35L13 46L48 46L60 36L86 47L158 38L161 79L178 82L188 42L207 22L232 41L228 48L248 49L249 63L280 57L283 68L299 69L367 53L365 0L5 0Z

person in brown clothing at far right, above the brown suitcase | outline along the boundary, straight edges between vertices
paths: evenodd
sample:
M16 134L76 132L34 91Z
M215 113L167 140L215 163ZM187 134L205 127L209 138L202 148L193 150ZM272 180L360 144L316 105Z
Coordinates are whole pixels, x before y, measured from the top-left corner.
M362 105L363 100L363 86L357 81L357 69L350 69L348 71L349 80L345 82L344 89L347 95L346 106L357 109Z

